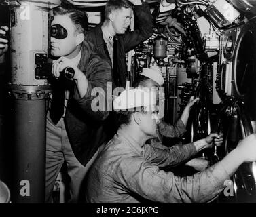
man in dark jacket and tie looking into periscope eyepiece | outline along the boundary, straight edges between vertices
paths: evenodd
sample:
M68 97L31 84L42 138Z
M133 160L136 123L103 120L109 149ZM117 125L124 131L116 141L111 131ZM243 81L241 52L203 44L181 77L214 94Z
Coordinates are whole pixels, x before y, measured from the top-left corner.
M102 134L101 121L108 115L106 110L92 111L91 92L94 87L106 90L111 67L94 52L94 45L84 40L88 28L86 12L61 5L53 9L53 15L51 54L58 60L52 65L56 79L52 79L54 90L47 115L45 201L50 202L54 182L66 161L71 178L70 202L77 202L81 182L104 142L97 135ZM60 72L67 67L75 73L73 82L65 85ZM62 113L58 113L59 105Z

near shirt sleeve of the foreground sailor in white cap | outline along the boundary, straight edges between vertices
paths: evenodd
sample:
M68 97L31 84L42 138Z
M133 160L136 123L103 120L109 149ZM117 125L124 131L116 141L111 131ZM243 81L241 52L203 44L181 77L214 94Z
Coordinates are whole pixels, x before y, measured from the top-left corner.
M213 200L230 177L221 162L193 176L179 177L137 157L120 163L118 182L149 199L161 203L206 203Z

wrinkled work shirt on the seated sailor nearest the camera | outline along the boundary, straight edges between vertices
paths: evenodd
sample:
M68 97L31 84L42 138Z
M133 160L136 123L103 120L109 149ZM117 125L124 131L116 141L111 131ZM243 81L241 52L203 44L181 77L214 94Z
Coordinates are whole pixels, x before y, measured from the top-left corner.
M221 166L179 177L160 167L177 165L196 153L194 144L141 147L122 128L100 153L88 174L87 203L205 203L229 179ZM145 199L145 200L144 200Z

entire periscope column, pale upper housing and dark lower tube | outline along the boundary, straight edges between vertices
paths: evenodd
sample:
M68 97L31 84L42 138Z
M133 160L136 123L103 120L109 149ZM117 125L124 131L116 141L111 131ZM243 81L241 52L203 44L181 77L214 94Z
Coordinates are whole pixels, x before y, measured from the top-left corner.
M52 7L60 0L6 0L10 9L10 92L14 96L12 203L45 201L46 98Z

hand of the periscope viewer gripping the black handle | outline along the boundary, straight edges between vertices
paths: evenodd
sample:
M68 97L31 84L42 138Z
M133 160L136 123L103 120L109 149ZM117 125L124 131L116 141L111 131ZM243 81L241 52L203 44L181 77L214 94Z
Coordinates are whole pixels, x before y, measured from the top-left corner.
M81 79L81 77L85 76L84 73L81 70L79 70L79 68L77 68L77 66L73 63L72 60L64 56L58 58L58 60L53 60L52 76L58 79L58 77L60 77L60 72L67 67L71 67L75 71L73 80L79 80Z

